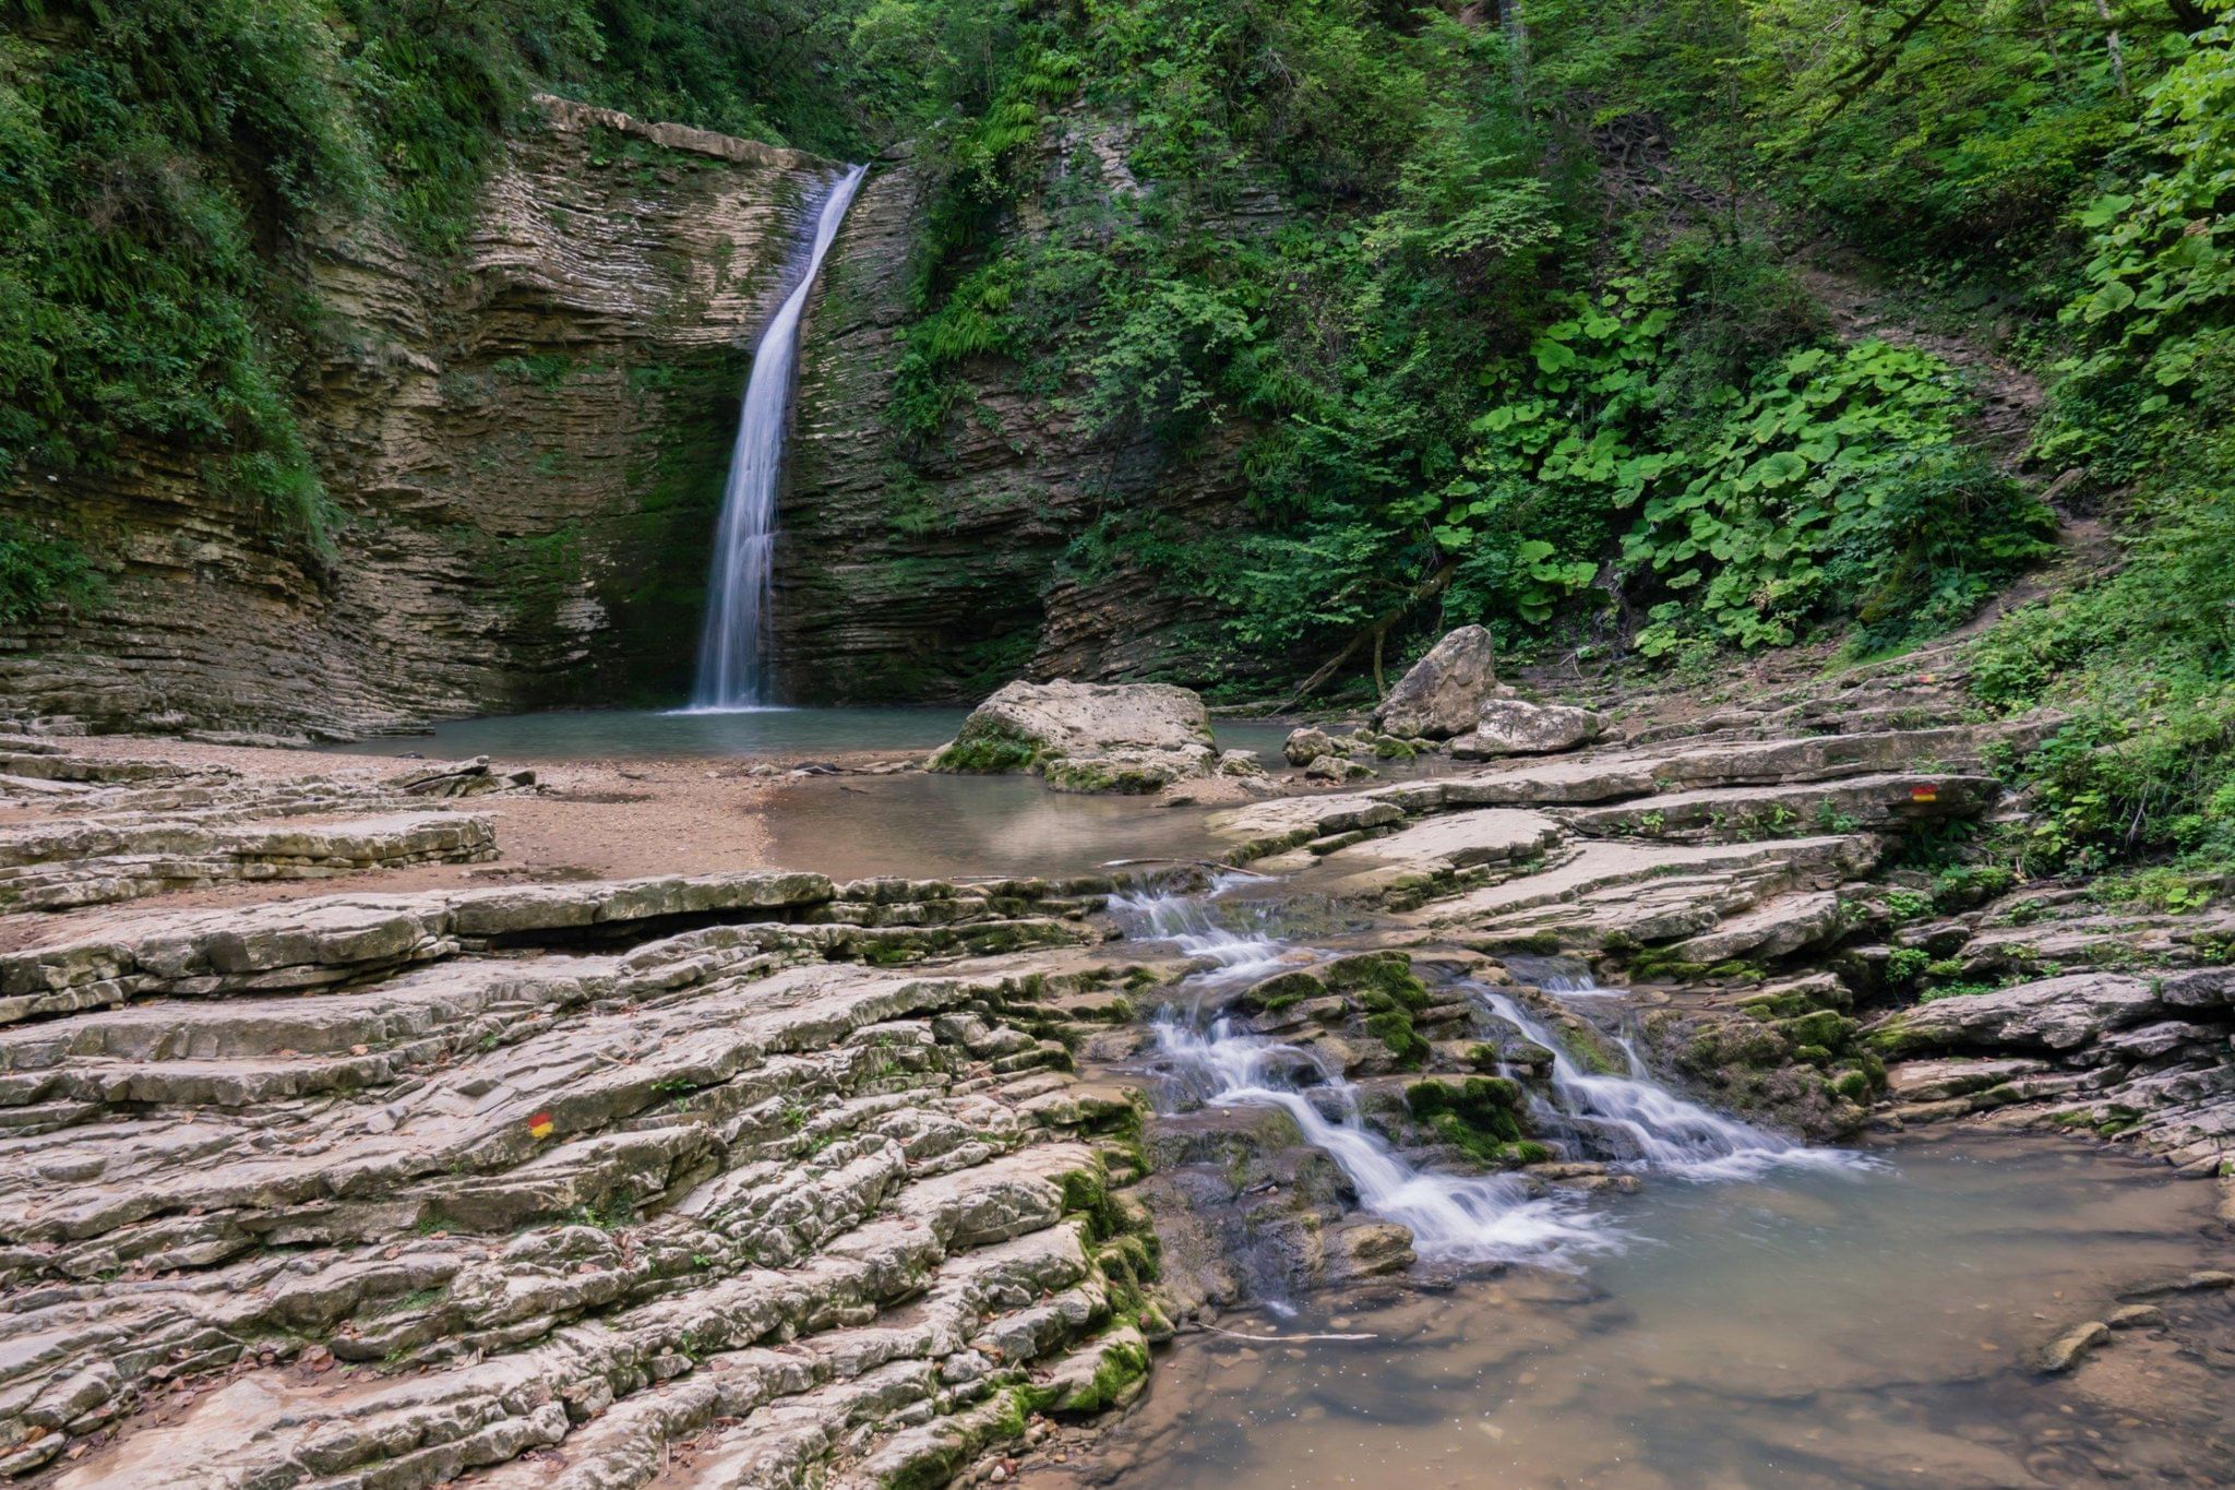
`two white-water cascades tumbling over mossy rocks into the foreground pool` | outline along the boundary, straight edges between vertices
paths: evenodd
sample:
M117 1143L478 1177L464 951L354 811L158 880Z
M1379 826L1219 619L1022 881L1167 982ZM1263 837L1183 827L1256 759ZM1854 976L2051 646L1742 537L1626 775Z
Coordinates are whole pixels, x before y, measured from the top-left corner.
M1191 1007L1167 1005L1155 1019L1158 1052L1180 1086L1207 1106L1265 1106L1287 1112L1303 1139L1343 1171L1366 1211L1413 1231L1413 1249L1421 1258L1527 1260L1560 1267L1582 1253L1620 1244L1620 1233L1602 1215L1580 1202L1531 1197L1520 1179L1413 1168L1359 1119L1357 1088L1341 1072L1325 1070L1299 1045L1240 1032L1227 1019L1214 1016L1202 1023L1207 994L1256 983L1299 961L1321 961L1321 954L1303 952L1265 932L1234 932L1205 900L1115 896L1111 909L1135 936L1173 943L1189 956L1211 963L1182 985L1196 994ZM1587 972L1569 976L1576 983L1573 994L1602 992L1591 985ZM1864 1164L1857 1155L1804 1148L1678 1097L1647 1074L1629 1041L1616 1041L1629 1066L1627 1077L1589 1074L1513 999L1480 983L1464 987L1497 1019L1553 1052L1551 1086L1560 1117L1611 1137L1625 1157L1643 1168L1690 1179L1743 1179L1777 1164L1837 1168ZM1299 1090L1294 1072L1316 1077L1316 1090ZM1323 1106L1337 1115L1328 1117Z

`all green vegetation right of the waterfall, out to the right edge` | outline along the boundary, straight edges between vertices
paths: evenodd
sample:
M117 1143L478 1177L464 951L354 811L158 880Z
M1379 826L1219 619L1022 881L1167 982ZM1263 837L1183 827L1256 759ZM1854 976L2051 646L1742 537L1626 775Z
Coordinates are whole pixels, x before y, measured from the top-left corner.
M1247 532L1113 503L1073 563L1218 596L1200 675L1240 693L1471 619L1652 666L1902 648L2047 554L2027 487L2072 469L2130 552L1980 648L1989 704L2076 713L2014 856L2235 849L2224 7L1500 9L1017 7L932 132L903 438L988 366L1176 462L1238 429ZM1833 335L1810 261L2029 364L2036 447L1980 447L1965 369Z

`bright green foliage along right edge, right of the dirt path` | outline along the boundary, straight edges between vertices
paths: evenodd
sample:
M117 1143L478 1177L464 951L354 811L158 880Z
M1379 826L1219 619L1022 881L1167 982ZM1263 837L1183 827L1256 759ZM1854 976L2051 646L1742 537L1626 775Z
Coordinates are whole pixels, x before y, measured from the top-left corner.
M2003 621L1974 688L2070 724L2023 766L2034 871L2132 860L2235 862L2235 270L2219 243L2235 197L2228 27L2190 40L2148 89L2121 179L2076 221L2081 337L2041 440L2130 483L2125 565Z

